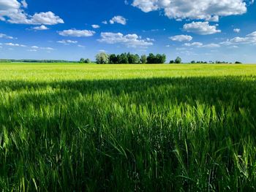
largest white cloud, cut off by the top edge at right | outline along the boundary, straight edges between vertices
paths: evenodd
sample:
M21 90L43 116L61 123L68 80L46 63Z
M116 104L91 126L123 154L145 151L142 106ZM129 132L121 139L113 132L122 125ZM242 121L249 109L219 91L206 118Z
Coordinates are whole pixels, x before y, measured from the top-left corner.
M176 20L219 20L219 16L242 15L253 1L245 0L134 0L132 6L143 12L164 10L168 18Z

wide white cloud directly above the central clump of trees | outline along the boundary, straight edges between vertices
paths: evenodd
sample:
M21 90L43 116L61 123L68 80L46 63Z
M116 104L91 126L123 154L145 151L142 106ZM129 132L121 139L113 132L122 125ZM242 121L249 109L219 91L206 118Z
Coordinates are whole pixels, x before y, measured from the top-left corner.
M141 39L137 34L121 34L121 33L101 33L101 39L99 42L105 42L108 44L121 43L127 45L127 47L147 47L153 45L153 39Z

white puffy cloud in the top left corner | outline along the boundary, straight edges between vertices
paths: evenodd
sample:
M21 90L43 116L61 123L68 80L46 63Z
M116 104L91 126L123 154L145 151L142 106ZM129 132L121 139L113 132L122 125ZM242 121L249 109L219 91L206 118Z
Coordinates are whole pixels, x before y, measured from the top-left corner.
M23 8L28 7L25 0L0 0L0 20L16 24L56 25L64 21L53 12L27 14Z

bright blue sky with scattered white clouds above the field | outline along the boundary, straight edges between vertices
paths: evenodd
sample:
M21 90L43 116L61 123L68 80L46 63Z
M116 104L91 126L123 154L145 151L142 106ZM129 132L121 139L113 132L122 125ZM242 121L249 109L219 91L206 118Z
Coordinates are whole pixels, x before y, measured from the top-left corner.
M254 0L0 0L0 58L99 52L256 63Z

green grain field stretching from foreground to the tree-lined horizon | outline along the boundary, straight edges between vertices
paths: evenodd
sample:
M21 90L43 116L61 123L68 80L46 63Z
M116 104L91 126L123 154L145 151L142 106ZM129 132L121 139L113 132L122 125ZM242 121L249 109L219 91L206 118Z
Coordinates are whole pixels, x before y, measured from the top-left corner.
M256 191L256 65L0 64L0 191Z

